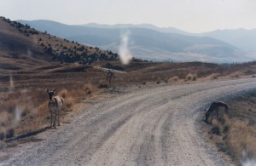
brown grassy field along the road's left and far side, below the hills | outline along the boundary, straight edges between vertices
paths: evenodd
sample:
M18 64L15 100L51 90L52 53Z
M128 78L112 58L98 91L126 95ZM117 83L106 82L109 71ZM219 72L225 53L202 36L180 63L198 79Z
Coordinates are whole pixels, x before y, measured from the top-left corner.
M105 64L105 65L104 65ZM106 62L96 64L106 66ZM108 64L109 65L109 64ZM40 129L49 123L46 89L57 89L58 94L65 91L66 111L62 117L73 110L79 100L86 100L98 94L108 94L104 89L125 86L157 85L168 83L191 83L232 77L237 66L218 66L204 63L146 63L132 62L122 66L113 62L113 68L119 66L123 72L117 72L116 79L109 85L107 73L101 68L85 65L50 65L34 68L32 71L9 72L1 76L1 129L15 128L15 135ZM140 66L140 68L137 68ZM231 68L231 69L230 69ZM232 69L235 68L235 69ZM252 66L239 67L238 77L247 75ZM193 72L192 72L193 71ZM234 72L233 72L234 71ZM218 77L211 77L211 75ZM15 112L20 110L19 125L14 124ZM6 131L2 131L6 132Z

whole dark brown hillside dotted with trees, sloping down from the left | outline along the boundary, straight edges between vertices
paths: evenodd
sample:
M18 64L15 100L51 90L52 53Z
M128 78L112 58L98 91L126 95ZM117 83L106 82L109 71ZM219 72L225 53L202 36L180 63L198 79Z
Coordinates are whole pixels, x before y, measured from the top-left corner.
M91 64L117 60L118 54L85 46L0 18L0 70L22 70L52 62Z

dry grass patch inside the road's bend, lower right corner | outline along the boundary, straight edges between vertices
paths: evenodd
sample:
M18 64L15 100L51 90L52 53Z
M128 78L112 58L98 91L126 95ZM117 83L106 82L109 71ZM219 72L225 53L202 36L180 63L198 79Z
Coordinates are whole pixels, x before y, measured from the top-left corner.
M230 100L230 115L223 121L213 120L208 126L210 139L220 152L225 152L240 164L241 160L256 158L256 95Z

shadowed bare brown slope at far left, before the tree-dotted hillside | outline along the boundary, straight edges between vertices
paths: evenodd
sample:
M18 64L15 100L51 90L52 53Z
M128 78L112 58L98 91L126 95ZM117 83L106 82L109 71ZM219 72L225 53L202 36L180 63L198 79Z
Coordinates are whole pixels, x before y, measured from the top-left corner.
M20 70L47 65L49 57L38 44L0 19L0 71Z

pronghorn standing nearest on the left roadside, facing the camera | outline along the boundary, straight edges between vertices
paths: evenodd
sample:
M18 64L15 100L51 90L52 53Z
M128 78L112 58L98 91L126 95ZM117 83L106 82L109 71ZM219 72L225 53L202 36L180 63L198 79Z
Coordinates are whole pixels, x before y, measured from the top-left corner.
M56 117L58 118L58 126L60 126L60 112L64 104L63 98L59 95L55 95L55 91L56 89L54 91L49 91L49 89L47 89L47 93L49 95L48 107L50 112L50 128L52 126L56 128ZM55 116L54 123L52 122L53 115Z

